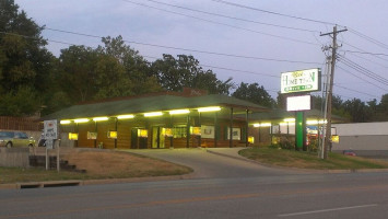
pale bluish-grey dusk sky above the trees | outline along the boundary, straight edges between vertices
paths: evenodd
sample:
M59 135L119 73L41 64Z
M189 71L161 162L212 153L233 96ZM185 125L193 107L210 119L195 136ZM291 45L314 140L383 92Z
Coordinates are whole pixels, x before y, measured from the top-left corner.
M275 97L281 72L321 68L338 34L334 95L379 102L388 93L388 1L374 0L15 0L55 55L69 44L96 47L121 35L145 59L192 55L236 84L257 82ZM70 34L73 32L78 34ZM61 42L61 43L60 43ZM64 44L67 43L67 44ZM315 93L321 94L321 92Z

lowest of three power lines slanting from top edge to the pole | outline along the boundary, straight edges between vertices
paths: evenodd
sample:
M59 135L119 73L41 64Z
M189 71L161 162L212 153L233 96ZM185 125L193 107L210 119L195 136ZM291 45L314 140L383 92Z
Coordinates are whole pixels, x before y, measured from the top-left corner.
M208 22L208 23L219 24L219 25L228 26L228 27L232 27L232 28L237 28L237 30L243 30L243 31L256 33L256 34L271 36L271 37L274 37L274 38L280 38L280 39L284 39L284 41L291 41L291 42L301 43L301 44L314 45L314 46L318 45L318 44L315 44L315 43L311 43L311 42L305 42L305 41L301 41L301 39L296 39L296 38L279 36L279 35L274 35L274 34L269 34L269 33L264 33L264 32L250 30L250 28L235 26L235 25L231 25L231 24L226 24L226 23L222 23L222 22L211 21L211 20L207 20L207 19L202 19L202 18L198 18L198 16L192 16L192 15L188 15L188 14L184 14L184 13L179 13L179 12L168 11L168 10L164 10L164 9L160 9L160 8L156 8L156 7L151 7L151 5L146 5L146 4L143 4L143 3L138 3L138 2L133 2L133 1L129 1L129 0L122 0L122 1L126 1L126 2L132 3L132 4L137 4L137 5L141 5L141 7L146 7L146 8L150 8L150 9L155 9L155 10L158 10L158 11L164 11L164 12L167 12L167 13L178 14L178 15L181 15L181 16L187 16L187 18L190 18L190 19L204 21L204 22Z

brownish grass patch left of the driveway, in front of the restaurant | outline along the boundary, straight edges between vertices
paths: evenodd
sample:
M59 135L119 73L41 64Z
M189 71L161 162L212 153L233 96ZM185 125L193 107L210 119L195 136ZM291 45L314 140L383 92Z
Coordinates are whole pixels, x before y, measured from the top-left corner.
M49 170L42 168L0 168L0 184L62 181L130 178L146 176L181 175L192 172L190 168L146 158L128 152L82 151L64 157L70 164L86 173Z

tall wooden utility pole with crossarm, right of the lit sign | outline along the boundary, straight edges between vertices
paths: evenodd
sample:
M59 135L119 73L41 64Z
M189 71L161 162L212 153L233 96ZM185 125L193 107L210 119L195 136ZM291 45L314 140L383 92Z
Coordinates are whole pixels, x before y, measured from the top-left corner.
M336 70L336 58L337 58L337 34L341 32L348 31L346 28L337 31L337 25L333 27L333 31L331 33L326 33L326 34L320 34L320 36L326 36L326 35L332 35L332 46L331 46L331 68L330 68L330 80L329 84L327 84L328 92L326 95L326 104L327 104L327 124L326 124L326 135L324 139L324 145L322 145L322 151L321 155L322 159L328 158L328 148L330 147L331 143L331 105L332 105L332 85L334 82L334 70Z

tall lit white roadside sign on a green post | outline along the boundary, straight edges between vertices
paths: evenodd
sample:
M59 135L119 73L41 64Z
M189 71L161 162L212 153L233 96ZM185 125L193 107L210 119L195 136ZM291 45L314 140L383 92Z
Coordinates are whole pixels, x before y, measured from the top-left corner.
M281 74L281 93L286 94L289 112L295 112L295 150L307 150L305 111L311 110L309 92L320 90L320 69L290 71Z

